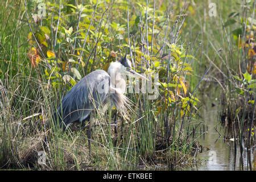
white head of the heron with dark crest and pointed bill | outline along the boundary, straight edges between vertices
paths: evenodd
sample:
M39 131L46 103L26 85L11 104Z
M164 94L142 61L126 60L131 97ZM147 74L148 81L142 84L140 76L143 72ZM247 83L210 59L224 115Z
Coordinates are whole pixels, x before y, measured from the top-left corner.
M121 60L110 63L108 73L109 73L109 75L111 75L111 74L116 75L116 74L120 73L121 75L124 75L124 76L127 75L127 76L131 76L131 77L147 79L143 75L141 75L141 74L133 71L133 69L131 69L131 61L129 59L127 59L126 55Z

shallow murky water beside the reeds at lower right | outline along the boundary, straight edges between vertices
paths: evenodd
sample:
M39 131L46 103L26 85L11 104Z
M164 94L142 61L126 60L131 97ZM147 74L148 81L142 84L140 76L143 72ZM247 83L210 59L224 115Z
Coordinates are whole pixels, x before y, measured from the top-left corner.
M208 126L208 132L199 141L207 149L199 154L203 163L188 170L250 170L250 166L252 170L256 170L255 146L249 151L245 148L241 155L240 148L235 150L234 141L224 140L225 127L218 121L218 110L212 103L205 105L201 116Z

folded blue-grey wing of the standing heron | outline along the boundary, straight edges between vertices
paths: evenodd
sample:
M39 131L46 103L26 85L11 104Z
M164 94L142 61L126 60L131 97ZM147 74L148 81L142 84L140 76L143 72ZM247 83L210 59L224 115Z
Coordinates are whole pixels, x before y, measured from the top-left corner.
M61 121L68 125L83 120L101 105L108 94L110 77L107 72L96 70L82 78L63 98L58 109Z

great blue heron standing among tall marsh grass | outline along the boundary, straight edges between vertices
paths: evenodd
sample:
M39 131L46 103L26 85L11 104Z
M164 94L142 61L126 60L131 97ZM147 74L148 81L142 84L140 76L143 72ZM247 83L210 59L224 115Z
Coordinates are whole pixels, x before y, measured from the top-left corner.
M89 122L87 135L90 151L91 111L110 102L121 113L127 112L130 101L124 95L126 75L146 79L131 69L131 62L126 56L110 63L108 72L96 70L83 77L61 101L57 112L53 115L55 123L59 123L65 130L71 123L80 122L82 126L86 121Z

